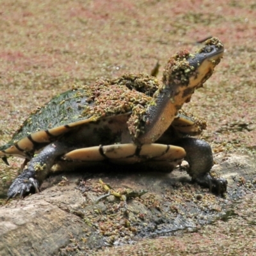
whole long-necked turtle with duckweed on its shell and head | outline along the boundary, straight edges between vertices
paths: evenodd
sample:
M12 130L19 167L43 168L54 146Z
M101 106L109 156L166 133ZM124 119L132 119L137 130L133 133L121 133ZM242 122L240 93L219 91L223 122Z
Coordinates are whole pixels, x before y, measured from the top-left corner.
M55 170L108 161L115 164L163 163L172 169L189 163L191 179L217 193L227 180L212 177L211 146L193 138L205 129L204 119L186 113L182 105L211 77L224 46L214 37L191 54L182 49L167 62L162 83L147 74L124 74L76 83L67 92L37 108L0 147L0 157L25 158L8 199L32 189Z

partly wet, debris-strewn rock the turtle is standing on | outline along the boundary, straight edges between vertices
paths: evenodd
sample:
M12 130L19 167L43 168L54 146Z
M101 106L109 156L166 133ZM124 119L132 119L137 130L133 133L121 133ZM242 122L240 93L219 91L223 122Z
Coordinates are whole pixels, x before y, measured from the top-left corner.
M84 255L140 237L196 230L224 218L228 206L254 189L255 159L219 154L215 162L213 170L228 179L225 198L191 184L186 172L179 170L131 172L131 166L118 166L115 172L86 172L86 179L81 172L65 173L65 179L52 176L42 185L42 193L0 207L0 255ZM106 193L99 178L114 189L148 192L127 200L127 208L108 198L94 204Z

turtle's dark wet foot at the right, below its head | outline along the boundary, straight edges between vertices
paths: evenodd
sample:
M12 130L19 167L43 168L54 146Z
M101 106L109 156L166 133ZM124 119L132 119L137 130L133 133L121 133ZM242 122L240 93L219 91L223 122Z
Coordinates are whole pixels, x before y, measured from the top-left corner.
M227 192L227 180L223 178L212 177L209 173L205 174L202 177L196 177L193 181L198 184L209 188L211 192L216 193L217 195L223 195Z

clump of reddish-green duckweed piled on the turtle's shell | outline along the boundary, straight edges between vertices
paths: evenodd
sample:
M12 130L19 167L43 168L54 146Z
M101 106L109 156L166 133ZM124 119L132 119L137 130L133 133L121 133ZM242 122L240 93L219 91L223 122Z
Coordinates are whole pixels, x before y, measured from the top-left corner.
M137 138L143 132L146 109L154 104L150 96L158 88L156 77L145 74L124 74L117 79L99 80L89 88L88 100L93 104L84 106L83 115L94 116L98 120L110 115L131 113L127 126L134 138Z

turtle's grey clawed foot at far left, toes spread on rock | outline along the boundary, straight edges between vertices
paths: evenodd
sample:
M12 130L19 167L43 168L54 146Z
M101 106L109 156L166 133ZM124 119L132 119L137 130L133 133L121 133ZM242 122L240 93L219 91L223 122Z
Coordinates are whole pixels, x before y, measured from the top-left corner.
M29 170L24 170L17 179L15 179L8 190L8 198L6 203L10 198L15 197L20 194L20 198L23 198L26 192L29 192L31 188L35 188L36 193L39 193L39 183L34 178L35 171L31 172Z

